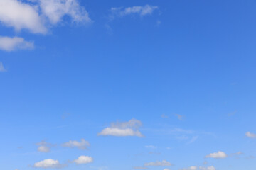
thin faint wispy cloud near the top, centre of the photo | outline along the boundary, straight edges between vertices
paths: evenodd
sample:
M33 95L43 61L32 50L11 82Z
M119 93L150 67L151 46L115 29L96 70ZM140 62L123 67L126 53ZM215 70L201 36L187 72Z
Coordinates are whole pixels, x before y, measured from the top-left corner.
M159 8L158 6L145 5L145 6L132 6L127 8L111 8L111 11L114 16L119 16L119 17L131 15L131 14L146 16L146 15L150 15L158 8Z

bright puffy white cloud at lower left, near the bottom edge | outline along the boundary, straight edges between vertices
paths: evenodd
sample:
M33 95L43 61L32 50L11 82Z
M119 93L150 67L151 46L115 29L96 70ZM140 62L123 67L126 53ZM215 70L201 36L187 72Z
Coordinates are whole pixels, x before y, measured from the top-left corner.
M60 162L58 162L58 160L45 159L41 162L36 162L33 166L35 168L52 169L52 168L63 168L67 165L60 164Z

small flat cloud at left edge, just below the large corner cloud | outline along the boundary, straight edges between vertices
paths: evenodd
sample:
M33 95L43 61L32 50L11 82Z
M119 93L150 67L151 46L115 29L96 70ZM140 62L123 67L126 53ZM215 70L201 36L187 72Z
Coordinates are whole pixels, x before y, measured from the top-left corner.
M14 51L14 50L25 50L33 49L33 42L28 42L23 38L19 37L1 37L0 36L0 50Z

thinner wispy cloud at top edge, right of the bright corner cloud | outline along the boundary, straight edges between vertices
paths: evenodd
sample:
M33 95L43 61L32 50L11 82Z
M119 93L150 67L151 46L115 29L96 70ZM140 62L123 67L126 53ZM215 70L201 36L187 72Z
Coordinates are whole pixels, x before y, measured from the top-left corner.
M61 21L63 16L70 16L72 21L77 23L89 23L89 14L78 4L77 0L39 0L40 7L44 16L50 23L56 24Z

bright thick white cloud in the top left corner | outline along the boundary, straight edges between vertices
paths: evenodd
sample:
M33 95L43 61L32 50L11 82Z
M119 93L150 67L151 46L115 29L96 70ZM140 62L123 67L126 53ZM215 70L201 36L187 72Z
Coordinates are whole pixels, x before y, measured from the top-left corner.
M36 7L17 0L0 1L0 21L15 30L28 29L32 33L46 33Z

